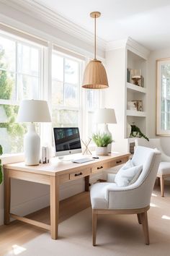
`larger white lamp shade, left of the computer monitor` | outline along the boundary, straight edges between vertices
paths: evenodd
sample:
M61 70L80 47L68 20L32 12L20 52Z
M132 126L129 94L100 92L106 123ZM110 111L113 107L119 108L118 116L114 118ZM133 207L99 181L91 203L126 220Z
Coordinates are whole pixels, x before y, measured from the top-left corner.
M20 103L18 122L50 122L50 111L47 101L24 100Z

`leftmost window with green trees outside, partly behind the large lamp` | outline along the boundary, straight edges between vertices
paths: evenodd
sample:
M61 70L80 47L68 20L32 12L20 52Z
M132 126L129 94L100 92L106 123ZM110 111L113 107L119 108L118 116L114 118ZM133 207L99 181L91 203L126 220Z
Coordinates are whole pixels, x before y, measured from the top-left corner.
M40 98L41 48L0 35L0 145L4 153L23 151L25 124L15 123L19 101Z

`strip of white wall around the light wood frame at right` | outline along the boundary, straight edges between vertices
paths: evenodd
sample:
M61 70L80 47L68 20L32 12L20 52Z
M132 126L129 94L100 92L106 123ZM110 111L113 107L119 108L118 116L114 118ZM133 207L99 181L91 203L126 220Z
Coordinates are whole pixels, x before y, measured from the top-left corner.
M170 47L151 51L148 57L148 137L156 137L156 59L170 57ZM161 145L165 153L170 155L170 137L161 137Z

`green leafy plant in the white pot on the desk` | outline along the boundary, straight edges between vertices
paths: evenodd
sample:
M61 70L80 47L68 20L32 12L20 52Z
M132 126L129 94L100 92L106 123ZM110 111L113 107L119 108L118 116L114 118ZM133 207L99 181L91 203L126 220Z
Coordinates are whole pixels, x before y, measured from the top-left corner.
M112 135L108 135L107 133L97 133L92 135L92 140L97 145L97 147L107 147L110 143L112 143Z

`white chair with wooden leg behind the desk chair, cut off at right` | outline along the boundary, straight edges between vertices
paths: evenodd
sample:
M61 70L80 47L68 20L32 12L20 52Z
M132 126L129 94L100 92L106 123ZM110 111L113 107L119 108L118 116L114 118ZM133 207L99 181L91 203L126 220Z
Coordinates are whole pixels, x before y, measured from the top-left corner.
M164 182L166 178L170 178L170 156L164 153L164 150L161 148L161 140L159 138L149 139L135 139L135 146L144 146L148 148L157 148L161 151L161 163L158 167L157 178L161 185L161 196L164 197Z

